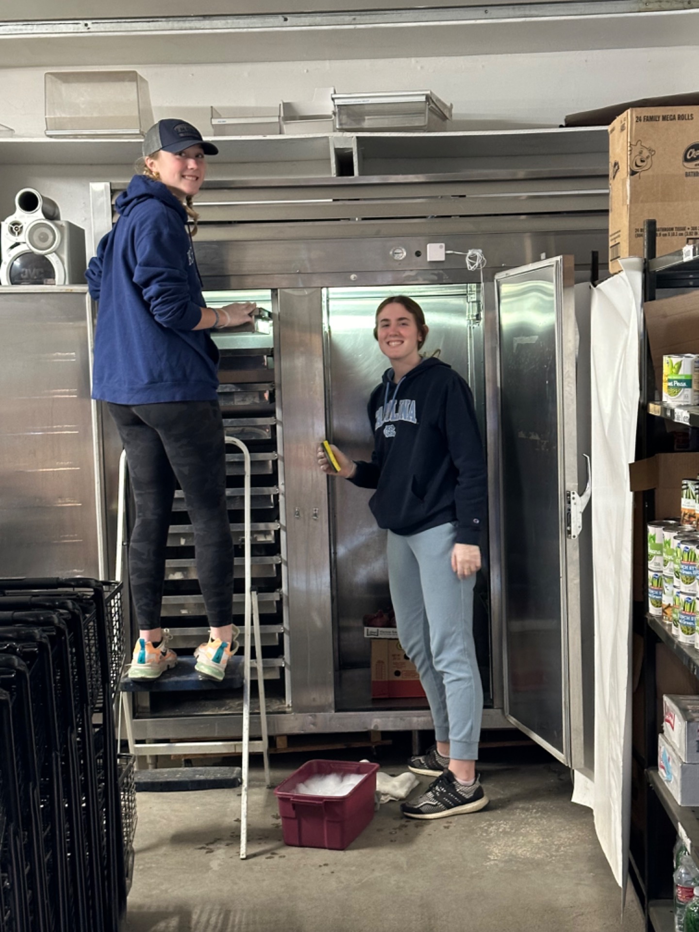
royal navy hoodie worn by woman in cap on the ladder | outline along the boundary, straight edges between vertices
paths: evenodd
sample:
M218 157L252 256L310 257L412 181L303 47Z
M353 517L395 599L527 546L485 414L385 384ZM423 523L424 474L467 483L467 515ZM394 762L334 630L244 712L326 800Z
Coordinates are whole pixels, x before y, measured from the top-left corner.
M219 353L193 330L204 299L185 208L168 188L135 175L119 219L90 260L100 302L92 397L117 404L215 401Z

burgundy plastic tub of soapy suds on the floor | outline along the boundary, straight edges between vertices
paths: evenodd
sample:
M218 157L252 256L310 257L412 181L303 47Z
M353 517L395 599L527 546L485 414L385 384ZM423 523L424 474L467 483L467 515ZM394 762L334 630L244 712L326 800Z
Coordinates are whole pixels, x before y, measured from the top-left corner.
M308 761L274 790L284 844L343 851L374 818L377 763ZM294 790L315 774L364 774L347 796L303 796Z

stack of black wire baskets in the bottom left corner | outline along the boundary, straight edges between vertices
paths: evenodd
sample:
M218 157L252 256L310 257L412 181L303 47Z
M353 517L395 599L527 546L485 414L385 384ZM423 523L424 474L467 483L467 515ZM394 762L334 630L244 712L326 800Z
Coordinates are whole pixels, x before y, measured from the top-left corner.
M135 829L121 583L0 579L0 932L118 932Z

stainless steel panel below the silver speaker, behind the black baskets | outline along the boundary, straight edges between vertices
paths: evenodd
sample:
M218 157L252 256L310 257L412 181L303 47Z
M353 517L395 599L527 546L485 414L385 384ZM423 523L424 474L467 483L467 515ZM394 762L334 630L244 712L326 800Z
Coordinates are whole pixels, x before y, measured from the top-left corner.
M91 320L86 288L0 288L5 576L104 573Z

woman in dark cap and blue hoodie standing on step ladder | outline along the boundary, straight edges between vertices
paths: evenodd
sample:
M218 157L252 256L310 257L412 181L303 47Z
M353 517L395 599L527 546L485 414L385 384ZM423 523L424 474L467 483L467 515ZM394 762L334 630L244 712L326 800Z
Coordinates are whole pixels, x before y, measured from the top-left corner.
M160 626L165 548L175 482L192 520L211 637L199 674L222 679L238 644L226 451L211 330L250 322L254 304L204 307L191 236L192 199L218 149L184 120L160 120L144 138L143 174L117 198L117 223L87 273L100 303L92 397L107 403L136 500L130 583L139 639L130 677L158 678L177 662ZM188 224L194 220L194 230Z

